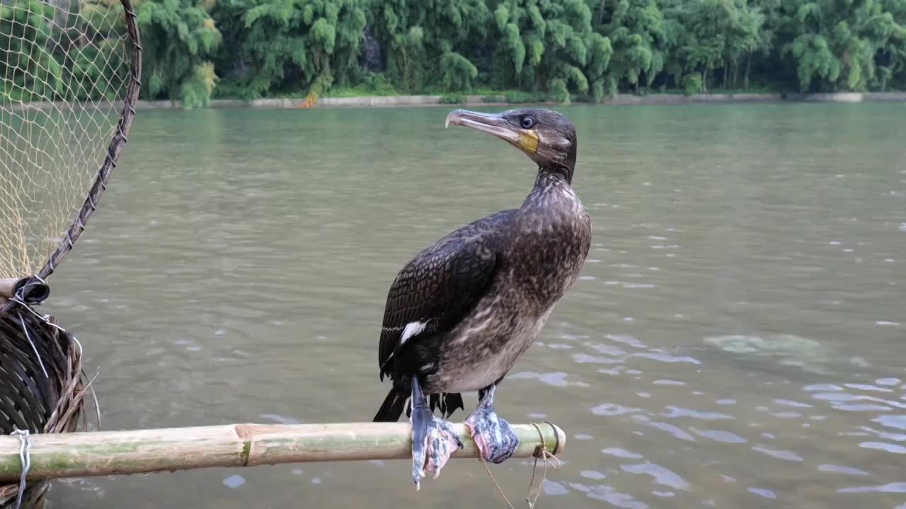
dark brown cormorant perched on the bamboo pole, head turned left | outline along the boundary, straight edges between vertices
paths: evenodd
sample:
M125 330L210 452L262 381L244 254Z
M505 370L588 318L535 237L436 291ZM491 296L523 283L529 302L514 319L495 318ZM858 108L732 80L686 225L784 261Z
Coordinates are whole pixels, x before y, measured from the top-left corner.
M381 381L386 375L393 387L374 421L394 422L404 410L410 415L416 489L426 471L437 477L454 447L462 447L443 419L463 408L460 392L478 391L480 402L466 424L481 455L493 463L513 455L518 440L496 416L496 385L575 282L592 232L571 187L576 136L564 115L535 108L453 110L449 124L506 140L535 161L538 172L522 206L439 239L390 285L378 362Z

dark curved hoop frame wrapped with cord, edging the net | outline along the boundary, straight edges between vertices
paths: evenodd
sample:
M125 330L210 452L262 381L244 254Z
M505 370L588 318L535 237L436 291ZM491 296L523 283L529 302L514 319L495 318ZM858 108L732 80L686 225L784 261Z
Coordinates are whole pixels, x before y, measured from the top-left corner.
M101 194L107 189L107 182L110 181L113 168L116 168L117 160L120 158L120 152L125 144L129 142L127 138L132 125L132 119L135 117L135 104L139 101L139 92L141 89L141 38L139 33L139 24L132 0L120 0L123 7L123 14L126 22L126 32L129 34L129 46L131 62L129 83L126 85L126 95L123 98L122 110L120 110L120 120L117 121L117 130L107 147L107 154L98 169L98 174L94 178L92 187L89 188L85 201L82 202L82 208L79 209L78 216L72 220L70 226L66 229L60 244L56 246L51 255L47 257L43 267L38 274L28 274L46 279L63 261L63 258L72 251L75 241L85 230L88 219L98 208L98 202ZM0 299L2 301L2 299ZM0 317L10 312L16 303L9 301L0 306Z

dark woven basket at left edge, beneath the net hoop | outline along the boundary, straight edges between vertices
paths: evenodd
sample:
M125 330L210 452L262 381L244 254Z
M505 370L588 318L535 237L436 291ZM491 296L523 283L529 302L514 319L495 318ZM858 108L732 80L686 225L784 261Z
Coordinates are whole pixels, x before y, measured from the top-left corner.
M64 433L85 428L82 351L69 332L17 304L0 316L0 433ZM26 334L25 331L28 331ZM37 355L35 355L37 351ZM44 372L46 371L46 375ZM29 483L22 507L40 507L48 481ZM0 485L0 508L14 507L19 485Z

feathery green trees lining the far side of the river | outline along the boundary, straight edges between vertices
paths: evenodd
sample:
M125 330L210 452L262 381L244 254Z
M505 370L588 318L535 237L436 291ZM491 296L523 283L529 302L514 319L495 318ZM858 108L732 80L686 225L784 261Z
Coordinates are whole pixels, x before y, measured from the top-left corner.
M64 55L19 47L49 74ZM115 4L114 4L115 5ZM147 99L906 89L906 0L137 0ZM109 8L116 8L115 6ZM51 15L48 13L47 15ZM5 38L4 38L5 37ZM25 41L31 39L25 38ZM102 46L101 46L102 47ZM46 52L45 52L46 53ZM37 56L34 56L37 55ZM11 58L16 90L39 86ZM53 61L53 62L52 62ZM79 79L78 77L76 79ZM487 101L494 98L489 97Z

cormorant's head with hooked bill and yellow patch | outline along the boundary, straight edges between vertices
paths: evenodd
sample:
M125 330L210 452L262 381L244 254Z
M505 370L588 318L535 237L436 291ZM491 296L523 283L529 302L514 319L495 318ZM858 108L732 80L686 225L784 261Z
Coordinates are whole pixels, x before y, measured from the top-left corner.
M522 150L542 170L564 173L567 182L573 179L575 128L561 113L544 108L502 113L452 110L447 115L446 126L450 124L493 134Z

